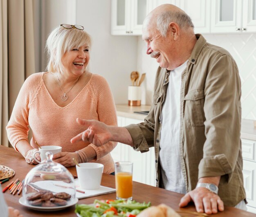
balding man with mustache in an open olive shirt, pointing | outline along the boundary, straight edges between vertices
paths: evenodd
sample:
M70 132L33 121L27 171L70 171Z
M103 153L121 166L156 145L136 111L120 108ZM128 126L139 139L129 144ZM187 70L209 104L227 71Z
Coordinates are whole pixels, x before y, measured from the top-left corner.
M189 16L171 4L146 17L143 39L161 67L145 122L112 127L78 118L89 128L71 142L118 141L141 152L154 146L157 186L184 193L181 207L193 200L200 213L217 213L224 204L246 209L234 59L195 35Z

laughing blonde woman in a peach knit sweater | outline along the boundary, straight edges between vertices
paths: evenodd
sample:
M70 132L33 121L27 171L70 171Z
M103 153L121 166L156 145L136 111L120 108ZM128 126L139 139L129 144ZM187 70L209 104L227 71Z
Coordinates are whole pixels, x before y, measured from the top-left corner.
M104 173L115 171L110 151L116 142L97 147L85 142L70 143L76 134L86 130L76 118L94 119L117 125L112 92L106 79L88 71L91 38L83 26L61 24L50 33L46 47L49 54L47 72L29 76L22 85L6 127L11 145L33 159L38 145L58 145L61 153L54 160L65 167L78 162L104 164ZM28 142L29 126L33 138ZM37 158L40 160L40 156Z

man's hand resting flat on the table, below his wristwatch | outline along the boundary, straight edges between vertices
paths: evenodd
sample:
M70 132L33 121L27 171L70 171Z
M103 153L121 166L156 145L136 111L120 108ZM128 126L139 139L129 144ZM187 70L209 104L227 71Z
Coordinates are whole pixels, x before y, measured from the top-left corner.
M224 204L220 197L206 188L199 187L186 193L180 200L180 207L188 205L189 202L195 203L198 213L215 214L224 210Z

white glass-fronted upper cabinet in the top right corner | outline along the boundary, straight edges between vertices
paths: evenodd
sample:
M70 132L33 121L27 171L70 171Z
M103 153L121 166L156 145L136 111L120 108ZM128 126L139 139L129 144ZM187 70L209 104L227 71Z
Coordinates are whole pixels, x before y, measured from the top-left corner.
M256 0L212 0L211 33L256 31Z

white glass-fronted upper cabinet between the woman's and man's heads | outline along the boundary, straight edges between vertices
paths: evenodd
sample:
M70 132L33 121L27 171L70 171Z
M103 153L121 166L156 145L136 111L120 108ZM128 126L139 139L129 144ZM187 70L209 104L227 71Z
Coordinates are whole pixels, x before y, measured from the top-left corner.
M141 35L148 0L112 0L111 34Z

